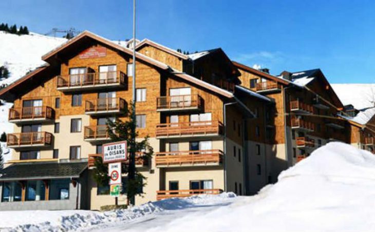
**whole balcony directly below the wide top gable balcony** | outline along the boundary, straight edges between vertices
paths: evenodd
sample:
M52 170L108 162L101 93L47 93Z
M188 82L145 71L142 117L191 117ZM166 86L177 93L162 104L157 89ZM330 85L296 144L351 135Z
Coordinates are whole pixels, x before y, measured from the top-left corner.
M104 98L86 101L85 113L89 115L118 114L126 109L126 102L122 98Z

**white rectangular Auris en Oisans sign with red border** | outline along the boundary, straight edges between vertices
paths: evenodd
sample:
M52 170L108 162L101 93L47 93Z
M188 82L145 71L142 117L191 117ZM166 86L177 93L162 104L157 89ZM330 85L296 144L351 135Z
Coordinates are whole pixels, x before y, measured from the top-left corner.
M126 141L103 144L103 163L122 162L126 160Z

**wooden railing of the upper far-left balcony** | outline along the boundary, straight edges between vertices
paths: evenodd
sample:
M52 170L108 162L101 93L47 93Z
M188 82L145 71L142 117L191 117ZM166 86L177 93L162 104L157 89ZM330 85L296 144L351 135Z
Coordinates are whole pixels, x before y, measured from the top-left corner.
M53 109L49 106L32 106L9 109L9 120L52 119L52 117Z

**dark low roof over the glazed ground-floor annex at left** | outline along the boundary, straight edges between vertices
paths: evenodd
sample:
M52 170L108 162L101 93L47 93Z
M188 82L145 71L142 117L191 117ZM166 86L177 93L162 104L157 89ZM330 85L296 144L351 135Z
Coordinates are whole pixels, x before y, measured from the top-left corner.
M0 181L79 178L87 162L16 163L0 170Z

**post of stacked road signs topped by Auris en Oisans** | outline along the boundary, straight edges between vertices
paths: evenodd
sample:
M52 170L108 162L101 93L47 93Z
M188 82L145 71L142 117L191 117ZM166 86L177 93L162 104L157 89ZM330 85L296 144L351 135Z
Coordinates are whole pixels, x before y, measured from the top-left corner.
M115 205L118 205L118 197L120 196L121 162L126 160L126 141L103 144L103 163L108 163L109 192L111 197L115 197Z

